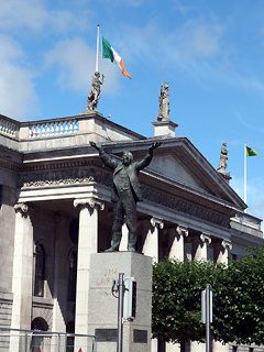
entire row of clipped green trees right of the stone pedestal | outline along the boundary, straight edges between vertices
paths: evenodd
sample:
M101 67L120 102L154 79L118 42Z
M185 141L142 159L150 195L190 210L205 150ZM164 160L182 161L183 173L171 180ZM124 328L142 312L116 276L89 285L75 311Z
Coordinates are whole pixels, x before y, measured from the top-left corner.
M183 343L205 341L201 292L215 294L215 340L264 342L264 246L252 249L229 266L212 261L178 262L164 258L153 270L154 338Z

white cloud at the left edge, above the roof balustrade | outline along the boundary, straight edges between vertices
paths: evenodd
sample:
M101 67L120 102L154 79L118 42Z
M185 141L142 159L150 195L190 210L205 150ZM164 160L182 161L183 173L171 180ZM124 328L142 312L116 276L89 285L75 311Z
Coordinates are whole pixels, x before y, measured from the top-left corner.
M0 36L0 111L10 118L25 120L38 112L34 91L35 74L23 68L23 51L8 36Z

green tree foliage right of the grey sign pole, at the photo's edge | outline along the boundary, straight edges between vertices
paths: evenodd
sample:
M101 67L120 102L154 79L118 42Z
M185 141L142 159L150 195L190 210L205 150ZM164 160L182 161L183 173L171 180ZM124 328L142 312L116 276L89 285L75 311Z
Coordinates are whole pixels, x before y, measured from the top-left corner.
M217 319L212 336L219 341L264 342L264 246L230 261L221 273L216 294Z

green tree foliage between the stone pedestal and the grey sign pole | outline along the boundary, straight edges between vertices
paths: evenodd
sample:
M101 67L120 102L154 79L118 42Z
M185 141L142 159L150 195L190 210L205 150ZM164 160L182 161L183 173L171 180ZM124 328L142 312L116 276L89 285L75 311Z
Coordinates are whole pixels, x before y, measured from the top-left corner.
M155 338L170 342L204 341L201 323L201 292L206 284L215 283L212 261L164 261L153 270L152 331Z

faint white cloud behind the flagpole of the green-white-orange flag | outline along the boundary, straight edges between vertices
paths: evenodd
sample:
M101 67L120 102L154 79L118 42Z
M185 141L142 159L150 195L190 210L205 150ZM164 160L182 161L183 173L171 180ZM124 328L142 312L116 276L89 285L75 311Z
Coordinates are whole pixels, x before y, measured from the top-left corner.
M57 84L62 89L85 94L90 91L91 76L96 70L96 52L82 38L63 40L46 53L45 68L54 66L58 68ZM117 66L110 61L109 65L99 61L99 70L106 75L102 90L107 94L113 94L118 87L116 69Z

